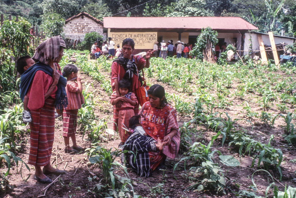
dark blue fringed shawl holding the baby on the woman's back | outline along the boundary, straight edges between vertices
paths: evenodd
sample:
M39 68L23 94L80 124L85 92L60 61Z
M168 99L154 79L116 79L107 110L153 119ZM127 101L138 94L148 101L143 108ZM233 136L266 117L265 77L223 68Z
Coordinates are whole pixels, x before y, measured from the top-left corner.
M41 62L35 63L33 66L28 68L20 77L20 98L24 100L25 95L27 94L30 85L33 82L35 73L41 70L45 74L52 76L53 69L49 65L45 65ZM59 77L59 82L57 84L57 92L54 106L57 109L62 109L67 107L67 93L66 93L67 80L61 75Z

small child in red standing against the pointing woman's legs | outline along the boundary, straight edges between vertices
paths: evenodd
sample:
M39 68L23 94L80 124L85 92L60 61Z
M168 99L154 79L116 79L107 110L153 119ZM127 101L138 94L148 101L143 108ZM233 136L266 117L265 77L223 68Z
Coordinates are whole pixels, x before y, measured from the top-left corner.
M126 79L121 79L118 82L120 97L116 97L116 91L111 94L111 104L118 109L118 115L113 115L114 119L118 119L118 133L122 146L130 135L123 128L128 127L129 119L135 115L133 109L138 105L138 100L133 92L130 92L131 83Z

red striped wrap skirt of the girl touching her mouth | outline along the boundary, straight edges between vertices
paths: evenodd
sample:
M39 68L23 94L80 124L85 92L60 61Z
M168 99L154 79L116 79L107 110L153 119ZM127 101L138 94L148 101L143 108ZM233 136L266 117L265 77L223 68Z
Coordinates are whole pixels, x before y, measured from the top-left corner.
M63 136L71 137L75 135L77 127L78 109L63 110Z

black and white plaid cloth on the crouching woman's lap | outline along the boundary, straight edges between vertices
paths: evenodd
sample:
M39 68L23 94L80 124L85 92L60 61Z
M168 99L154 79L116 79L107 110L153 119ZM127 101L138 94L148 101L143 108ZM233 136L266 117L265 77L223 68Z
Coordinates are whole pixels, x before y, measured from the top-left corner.
M141 135L137 129L128 137L123 145L123 151L129 152L121 155L122 163L130 165L135 173L141 177L152 175L150 170L148 151L157 151L156 141L149 136Z

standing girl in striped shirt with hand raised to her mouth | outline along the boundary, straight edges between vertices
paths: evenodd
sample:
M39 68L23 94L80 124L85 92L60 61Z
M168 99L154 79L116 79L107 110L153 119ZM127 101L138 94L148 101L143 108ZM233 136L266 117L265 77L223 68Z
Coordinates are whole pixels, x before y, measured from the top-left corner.
M78 153L83 148L76 144L76 127L78 109L84 103L82 95L81 77L77 76L78 68L73 64L67 64L63 68L63 76L67 78L67 98L68 106L63 110L63 136L65 140L65 153ZM73 146L69 146L69 137L72 139Z

